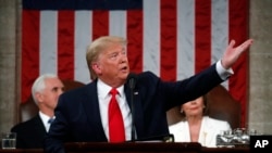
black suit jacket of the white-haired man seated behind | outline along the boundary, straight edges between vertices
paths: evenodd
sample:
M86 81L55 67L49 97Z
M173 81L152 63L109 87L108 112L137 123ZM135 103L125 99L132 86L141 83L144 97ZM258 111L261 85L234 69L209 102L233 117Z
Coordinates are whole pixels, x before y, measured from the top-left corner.
M17 133L17 149L42 149L47 131L38 114L29 120L15 125L11 131Z

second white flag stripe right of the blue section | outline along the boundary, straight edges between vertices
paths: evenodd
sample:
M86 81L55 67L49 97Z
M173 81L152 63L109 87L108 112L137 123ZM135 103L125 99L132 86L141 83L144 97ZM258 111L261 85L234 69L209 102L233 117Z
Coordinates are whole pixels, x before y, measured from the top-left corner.
M177 1L177 79L195 74L195 0Z

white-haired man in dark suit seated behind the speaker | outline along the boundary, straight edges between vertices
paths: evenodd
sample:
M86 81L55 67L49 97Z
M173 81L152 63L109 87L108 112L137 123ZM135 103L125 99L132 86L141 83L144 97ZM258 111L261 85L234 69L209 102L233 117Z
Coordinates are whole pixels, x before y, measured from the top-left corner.
M44 138L54 117L59 95L63 92L63 84L53 74L39 76L32 87L32 95L39 109L39 113L11 128L16 132L17 149L42 149Z

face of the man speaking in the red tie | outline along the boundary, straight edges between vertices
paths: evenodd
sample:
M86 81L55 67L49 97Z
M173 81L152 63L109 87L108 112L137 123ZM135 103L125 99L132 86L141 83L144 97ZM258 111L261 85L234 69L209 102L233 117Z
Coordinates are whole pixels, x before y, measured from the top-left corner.
M98 77L112 87L119 87L126 80L129 73L126 48L113 44L104 50L96 63Z

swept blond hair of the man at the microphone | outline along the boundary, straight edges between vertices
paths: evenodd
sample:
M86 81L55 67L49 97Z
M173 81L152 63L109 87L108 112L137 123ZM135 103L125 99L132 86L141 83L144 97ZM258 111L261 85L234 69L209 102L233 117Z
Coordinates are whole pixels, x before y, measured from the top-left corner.
M86 52L86 60L87 60L87 65L90 72L90 78L94 80L97 78L97 74L94 72L91 68L91 65L94 62L97 62L99 59L99 54L107 50L109 47L112 47L113 44L122 44L126 46L127 41L126 39L118 36L102 36L95 41L92 41L88 47L87 47L87 52Z

